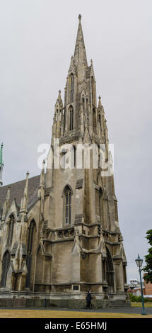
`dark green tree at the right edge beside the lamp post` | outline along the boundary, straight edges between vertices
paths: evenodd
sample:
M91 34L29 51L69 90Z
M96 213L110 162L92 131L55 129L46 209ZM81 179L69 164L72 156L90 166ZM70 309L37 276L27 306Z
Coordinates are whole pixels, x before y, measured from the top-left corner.
M148 249L148 254L145 256L146 266L144 267L143 271L146 272L144 276L144 280L146 283L149 281L152 283L152 229L146 232L146 239L148 239L148 244L151 247Z

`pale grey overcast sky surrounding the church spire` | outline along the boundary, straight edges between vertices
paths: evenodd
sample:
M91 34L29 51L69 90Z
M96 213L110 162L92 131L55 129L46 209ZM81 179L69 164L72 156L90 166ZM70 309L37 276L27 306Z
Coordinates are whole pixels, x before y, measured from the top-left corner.
M127 255L146 255L151 223L151 0L0 0L0 142L4 185L40 173L54 104L64 86L82 15L88 64L115 145L115 192Z

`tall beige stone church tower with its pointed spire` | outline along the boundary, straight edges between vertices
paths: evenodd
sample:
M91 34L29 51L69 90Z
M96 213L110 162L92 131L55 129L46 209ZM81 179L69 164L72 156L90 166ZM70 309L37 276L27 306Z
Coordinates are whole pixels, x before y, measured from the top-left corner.
M83 304L88 287L96 305L109 297L125 300L127 291L127 260L113 174L103 171L111 165L107 122L100 96L97 103L93 61L89 66L87 62L81 15L78 19L64 103L59 91L54 108L45 178L46 242L52 254L50 290L74 298L75 306L76 302ZM100 147L105 147L105 164L101 165ZM89 166L85 157L86 162L90 160Z

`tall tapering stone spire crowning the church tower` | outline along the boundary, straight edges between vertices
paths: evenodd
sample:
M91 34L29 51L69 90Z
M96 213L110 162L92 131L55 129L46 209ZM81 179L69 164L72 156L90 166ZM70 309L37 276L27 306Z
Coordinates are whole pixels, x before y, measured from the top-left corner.
M74 64L78 67L79 64L83 64L88 67L87 57L86 57L86 48L84 44L83 31L81 26L81 14L78 16L78 32L76 36L76 46L74 51Z

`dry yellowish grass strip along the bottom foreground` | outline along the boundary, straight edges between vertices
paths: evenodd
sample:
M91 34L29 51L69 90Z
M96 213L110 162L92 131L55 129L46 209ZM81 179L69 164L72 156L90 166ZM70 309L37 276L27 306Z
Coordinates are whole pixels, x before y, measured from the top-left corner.
M0 310L0 318L152 318L152 315L134 315L110 312L78 312L54 310Z

